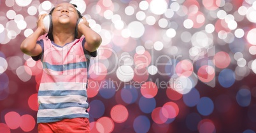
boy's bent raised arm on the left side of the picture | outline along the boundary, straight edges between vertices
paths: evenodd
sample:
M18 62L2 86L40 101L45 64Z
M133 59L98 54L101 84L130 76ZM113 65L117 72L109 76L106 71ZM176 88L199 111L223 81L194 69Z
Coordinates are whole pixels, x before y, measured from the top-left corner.
M46 15L47 14L39 15L39 19L37 22L38 28L36 28L34 33L29 35L29 37L27 37L26 39L24 39L24 41L22 41L22 44L20 45L20 50L23 53L28 54L29 56L37 56L37 55L41 54L42 48L41 48L41 46L39 46L39 44L36 44L36 41L38 41L38 38L41 35L45 34L43 18Z

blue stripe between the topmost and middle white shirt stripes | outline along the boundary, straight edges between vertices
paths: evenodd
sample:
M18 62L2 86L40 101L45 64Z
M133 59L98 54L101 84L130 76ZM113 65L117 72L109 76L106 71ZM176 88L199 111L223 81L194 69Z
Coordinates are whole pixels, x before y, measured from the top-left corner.
M85 90L64 90L64 91L38 91L38 96L67 96L67 95L80 95L87 97Z

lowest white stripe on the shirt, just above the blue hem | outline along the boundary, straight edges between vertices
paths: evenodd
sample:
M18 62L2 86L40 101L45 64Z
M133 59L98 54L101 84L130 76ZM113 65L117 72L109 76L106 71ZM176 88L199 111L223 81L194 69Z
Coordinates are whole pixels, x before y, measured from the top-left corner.
M63 115L71 115L75 113L85 114L85 110L85 108L80 107L38 110L38 117L61 117Z

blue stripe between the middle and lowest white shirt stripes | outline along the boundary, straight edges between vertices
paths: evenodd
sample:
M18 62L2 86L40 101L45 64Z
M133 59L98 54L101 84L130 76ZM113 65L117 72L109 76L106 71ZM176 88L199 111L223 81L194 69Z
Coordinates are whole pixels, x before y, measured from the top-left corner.
M81 108L88 108L88 103L86 104L80 104L80 103L50 103L50 104L45 104L41 103L39 105L39 110L43 109L57 109L57 108L69 108L69 107L81 107Z

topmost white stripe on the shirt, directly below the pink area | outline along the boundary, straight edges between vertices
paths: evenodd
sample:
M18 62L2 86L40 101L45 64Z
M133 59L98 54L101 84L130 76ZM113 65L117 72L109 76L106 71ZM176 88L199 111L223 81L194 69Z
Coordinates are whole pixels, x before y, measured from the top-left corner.
M85 90L87 82L48 82L41 83L39 91Z

